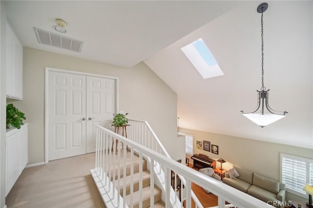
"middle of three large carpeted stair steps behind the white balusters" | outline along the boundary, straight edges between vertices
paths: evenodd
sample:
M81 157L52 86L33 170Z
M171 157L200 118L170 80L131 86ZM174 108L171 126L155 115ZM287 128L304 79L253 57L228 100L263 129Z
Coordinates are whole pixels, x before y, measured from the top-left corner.
M134 173L133 175L133 181L131 180L131 175L126 176L126 195L130 194L131 192L131 184L133 184L134 189L133 191L139 190L139 177L140 177L140 172ZM120 179L120 187L119 187L119 192L120 195L123 196L123 183L124 183L124 178ZM115 181L115 184L117 186L117 180ZM146 187L150 185L150 171L149 170L143 170L142 171L142 187ZM118 187L117 187L118 189Z

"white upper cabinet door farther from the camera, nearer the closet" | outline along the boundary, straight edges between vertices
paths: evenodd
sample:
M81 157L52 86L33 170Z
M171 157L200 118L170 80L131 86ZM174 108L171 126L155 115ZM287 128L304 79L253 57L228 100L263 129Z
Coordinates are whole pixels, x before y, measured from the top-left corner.
M13 96L22 99L23 79L23 47L19 39L14 36L14 87Z

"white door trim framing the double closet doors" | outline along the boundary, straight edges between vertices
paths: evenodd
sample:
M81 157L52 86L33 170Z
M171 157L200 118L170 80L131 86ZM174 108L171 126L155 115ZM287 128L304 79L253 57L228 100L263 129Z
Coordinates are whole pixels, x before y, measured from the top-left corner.
M70 71L70 70L64 70L64 69L57 69L57 68L50 68L45 67L45 164L49 162L49 146L48 146L48 126L49 126L49 116L48 116L48 81L49 81L49 71L55 71L55 72L62 72L62 73L68 73L68 74L77 74L77 75L86 75L86 76L92 76L92 77L101 77L101 78L107 78L107 79L114 79L115 80L115 113L118 112L118 78L117 77L110 77L110 76L104 76L104 75L98 75L98 74L90 74L85 72L77 72L77 71Z

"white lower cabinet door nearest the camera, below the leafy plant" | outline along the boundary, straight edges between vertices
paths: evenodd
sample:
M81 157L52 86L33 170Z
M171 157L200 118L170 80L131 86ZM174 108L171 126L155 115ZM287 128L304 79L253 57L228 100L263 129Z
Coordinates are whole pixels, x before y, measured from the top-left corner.
M20 132L6 138L6 195L20 176Z

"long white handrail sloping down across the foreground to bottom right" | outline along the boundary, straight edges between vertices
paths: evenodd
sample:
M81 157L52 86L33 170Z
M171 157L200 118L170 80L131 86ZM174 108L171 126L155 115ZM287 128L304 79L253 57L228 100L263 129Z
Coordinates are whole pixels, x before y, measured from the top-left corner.
M100 125L97 125L96 127L101 131L101 134L105 133L105 134L111 135L114 139L118 139L119 142L122 142L124 143L124 145L129 146L131 148L131 152L133 152L135 149L136 151L140 152L140 154L146 155L147 157L158 162L159 164L162 164L165 167L165 172L168 173L170 170L173 170L179 175L185 177L186 178L185 188L187 190L186 207L188 208L190 207L189 205L191 205L191 199L190 199L191 196L188 194L188 192L191 190L191 182L217 195L219 197L219 200L218 200L219 208L225 207L224 203L220 204L220 202L224 202L224 201L227 201L235 205L236 207L242 207L242 208L271 207L267 203L262 202L236 188L220 183L219 181L212 179L204 175L203 173L196 171L194 169L191 169L183 164L177 163L176 161L169 160L168 157L158 152L151 151L151 149L145 146L139 145L136 142L133 142L119 134L116 134L109 129L106 129ZM113 152L115 153L115 150Z

